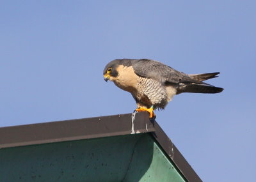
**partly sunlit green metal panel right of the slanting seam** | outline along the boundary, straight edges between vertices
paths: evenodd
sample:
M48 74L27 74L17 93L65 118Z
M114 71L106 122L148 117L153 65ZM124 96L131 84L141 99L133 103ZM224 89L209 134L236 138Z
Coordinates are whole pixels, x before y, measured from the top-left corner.
M149 155L149 153L153 153L153 155ZM133 158L124 181L138 181L134 178L134 174L140 172L141 169L145 169L146 166L148 170L145 173L143 171L139 181L185 181L172 162L164 155L158 144L148 134L147 137L141 137L138 140Z

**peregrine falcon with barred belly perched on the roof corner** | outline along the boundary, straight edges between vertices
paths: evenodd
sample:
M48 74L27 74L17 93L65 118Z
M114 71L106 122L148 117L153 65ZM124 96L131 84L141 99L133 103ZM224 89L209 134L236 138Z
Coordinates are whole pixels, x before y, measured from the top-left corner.
M128 91L137 103L137 112L147 111L156 118L154 109L164 109L180 93L220 93L221 87L203 82L218 77L219 72L193 74L179 72L150 59L115 59L103 70L104 80Z

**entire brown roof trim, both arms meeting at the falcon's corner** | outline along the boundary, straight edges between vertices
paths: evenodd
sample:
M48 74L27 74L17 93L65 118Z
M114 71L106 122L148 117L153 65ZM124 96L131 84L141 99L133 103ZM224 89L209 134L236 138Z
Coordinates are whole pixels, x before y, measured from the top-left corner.
M202 181L156 121L150 121L146 112L3 127L0 128L0 149L148 132L152 132L188 181Z

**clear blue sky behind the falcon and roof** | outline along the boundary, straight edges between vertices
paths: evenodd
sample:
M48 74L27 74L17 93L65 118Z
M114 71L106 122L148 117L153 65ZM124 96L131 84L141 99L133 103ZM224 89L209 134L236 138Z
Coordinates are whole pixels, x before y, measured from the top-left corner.
M255 172L255 1L1 1L0 126L132 112L104 82L116 58L221 72L217 95L175 96L157 122L203 181Z

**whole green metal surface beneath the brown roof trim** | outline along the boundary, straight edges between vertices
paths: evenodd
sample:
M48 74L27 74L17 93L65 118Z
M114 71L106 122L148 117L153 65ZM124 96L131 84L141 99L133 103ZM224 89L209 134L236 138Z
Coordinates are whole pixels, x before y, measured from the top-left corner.
M184 181L150 134L0 149L0 181Z

